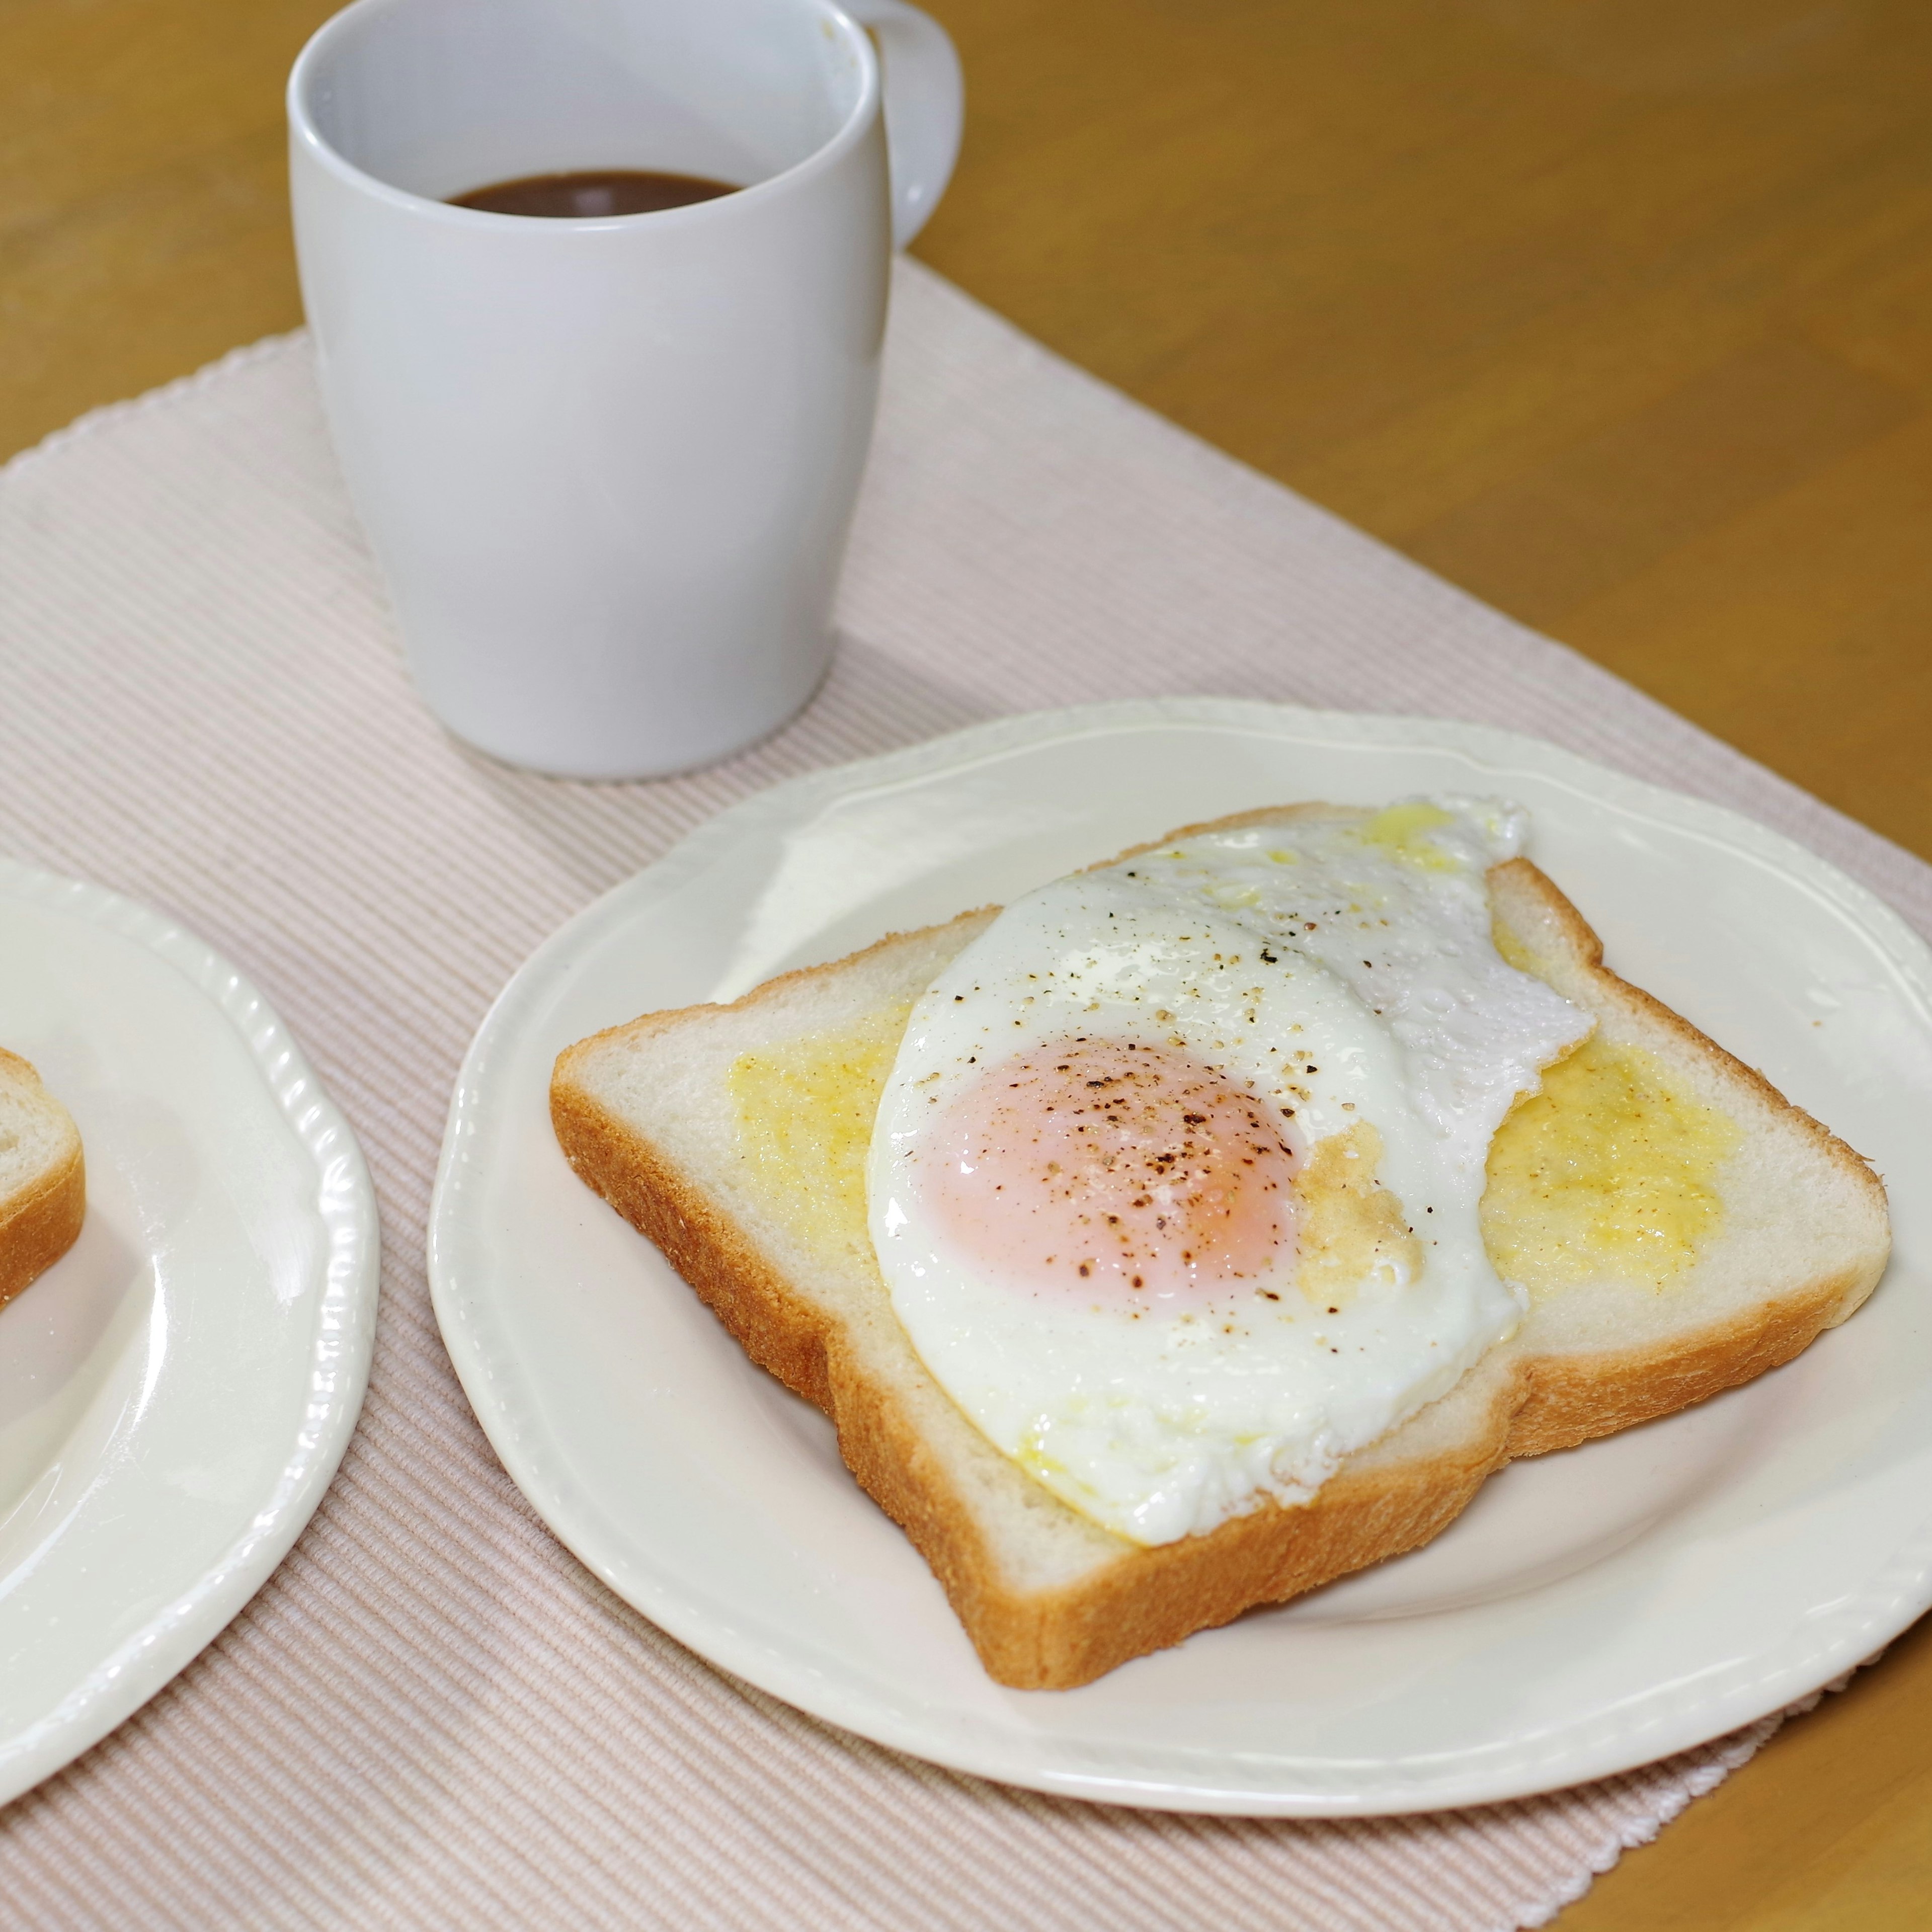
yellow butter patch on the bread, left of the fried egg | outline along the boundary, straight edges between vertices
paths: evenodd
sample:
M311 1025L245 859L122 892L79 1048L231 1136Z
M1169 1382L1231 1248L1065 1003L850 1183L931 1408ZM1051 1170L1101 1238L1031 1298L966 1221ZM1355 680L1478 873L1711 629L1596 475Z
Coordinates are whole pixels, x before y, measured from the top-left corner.
M740 1053L726 1084L746 1177L829 1244L867 1242L866 1155L912 1007Z

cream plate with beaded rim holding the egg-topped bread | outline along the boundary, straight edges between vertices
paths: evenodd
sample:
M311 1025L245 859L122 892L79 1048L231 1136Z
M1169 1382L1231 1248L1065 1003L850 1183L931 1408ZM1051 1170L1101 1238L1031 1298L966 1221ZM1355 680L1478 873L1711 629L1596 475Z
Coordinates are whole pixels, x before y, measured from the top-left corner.
M1082 1690L1005 1690L838 1461L551 1136L556 1051L1173 825L1418 790L1530 808L1611 964L1870 1155L1897 1258L1789 1368L1517 1464L1414 1555ZM1803 1696L1932 1602L1932 956L1710 804L1474 724L1221 699L1010 719L723 813L543 945L464 1063L437 1314L506 1468L620 1596L883 1745L1175 1810L1401 1812L1577 1783Z

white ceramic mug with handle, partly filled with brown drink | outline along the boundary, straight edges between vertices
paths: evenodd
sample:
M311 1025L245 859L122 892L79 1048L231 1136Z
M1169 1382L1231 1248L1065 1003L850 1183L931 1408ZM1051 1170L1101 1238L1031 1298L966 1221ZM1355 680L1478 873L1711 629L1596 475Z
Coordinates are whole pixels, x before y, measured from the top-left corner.
M328 427L431 709L572 777L790 717L831 651L891 247L958 151L941 27L898 0L357 0L288 118ZM744 185L593 220L444 199L603 168Z

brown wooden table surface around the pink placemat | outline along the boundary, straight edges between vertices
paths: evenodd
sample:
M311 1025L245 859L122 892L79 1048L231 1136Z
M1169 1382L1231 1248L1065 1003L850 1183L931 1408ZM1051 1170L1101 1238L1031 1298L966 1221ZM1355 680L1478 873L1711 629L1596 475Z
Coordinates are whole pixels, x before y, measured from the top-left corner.
M933 10L972 108L922 257L1932 858L1932 6ZM328 12L0 8L0 454L299 321ZM1561 1918L1926 1924L1924 1629Z

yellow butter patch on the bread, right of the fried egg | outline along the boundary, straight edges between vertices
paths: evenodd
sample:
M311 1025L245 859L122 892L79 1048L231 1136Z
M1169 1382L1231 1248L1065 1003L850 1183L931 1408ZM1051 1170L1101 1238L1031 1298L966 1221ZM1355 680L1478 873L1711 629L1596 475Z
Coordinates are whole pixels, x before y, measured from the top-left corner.
M1718 1173L1741 1138L1654 1053L1586 1039L1490 1144L1482 1235L1497 1273L1532 1294L1667 1287L1723 1221Z

